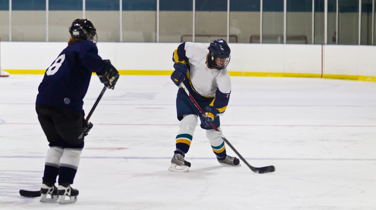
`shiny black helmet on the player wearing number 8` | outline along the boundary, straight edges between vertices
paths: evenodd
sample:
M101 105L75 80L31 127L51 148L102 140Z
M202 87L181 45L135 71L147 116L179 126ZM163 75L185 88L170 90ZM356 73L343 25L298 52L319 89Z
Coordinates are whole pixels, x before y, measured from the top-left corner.
M69 27L69 33L72 38L80 38L97 43L97 29L89 19L76 19Z

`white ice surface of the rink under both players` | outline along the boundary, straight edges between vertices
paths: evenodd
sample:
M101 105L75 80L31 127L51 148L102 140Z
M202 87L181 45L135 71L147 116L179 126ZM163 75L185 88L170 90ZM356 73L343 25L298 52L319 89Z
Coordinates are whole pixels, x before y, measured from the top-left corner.
M121 75L90 121L74 204L45 204L38 190L47 140L35 113L43 75L0 78L0 209L374 210L376 83L232 77L223 135L267 174L220 166L196 128L187 173L168 171L178 130L169 76ZM93 76L89 113L102 84ZM235 155L228 146L227 154Z

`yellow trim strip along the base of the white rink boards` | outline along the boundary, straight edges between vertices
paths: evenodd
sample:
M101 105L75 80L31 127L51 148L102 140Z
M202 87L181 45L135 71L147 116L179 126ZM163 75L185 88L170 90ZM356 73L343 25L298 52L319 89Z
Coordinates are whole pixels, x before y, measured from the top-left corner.
M39 69L4 69L11 75L44 75L44 70ZM173 70L118 70L120 75L168 75L170 76ZM95 74L95 73L93 73ZM229 72L230 76L260 76L260 77L308 77L321 78L321 74L305 74L305 73L273 73L273 72ZM324 74L322 78L328 79L345 79L345 80L359 80L376 82L376 76L361 76L361 75L329 75Z

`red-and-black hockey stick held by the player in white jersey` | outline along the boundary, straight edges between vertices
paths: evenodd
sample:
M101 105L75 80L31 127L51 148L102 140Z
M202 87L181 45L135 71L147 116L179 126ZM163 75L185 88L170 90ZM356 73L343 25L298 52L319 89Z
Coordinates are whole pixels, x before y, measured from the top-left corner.
M194 105L197 107L197 109L199 109L199 112L205 116L205 113L204 111L200 108L199 104L196 102L196 100L193 98L193 96L191 95L190 91L185 87L185 85L183 84L183 82L180 83L180 86L179 87L182 87L184 90L185 90L185 93L190 97L191 101L194 103ZM275 170L274 166L265 166L265 167L254 167L254 166L251 166L247 161L246 159L243 158L243 156L241 156L239 154L239 152L230 144L230 142L227 140L226 137L224 137L224 135L222 134L221 131L218 130L218 128L214 125L214 123L211 123L211 126L212 128L217 131L217 133L219 134L219 136L224 140L224 142L227 143L227 145L230 146L230 148L239 156L239 158L241 160L243 160L243 162L255 173L269 173L269 172L273 172Z

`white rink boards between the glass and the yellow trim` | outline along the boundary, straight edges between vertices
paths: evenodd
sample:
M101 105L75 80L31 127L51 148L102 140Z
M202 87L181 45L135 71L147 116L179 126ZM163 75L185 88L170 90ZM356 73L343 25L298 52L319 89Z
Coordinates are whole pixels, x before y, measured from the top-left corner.
M180 43L98 43L99 55L119 70L173 70L172 53ZM208 43L206 43L208 44ZM66 42L2 42L3 69L43 70ZM376 76L376 48L303 44L238 44L231 48L230 72Z

